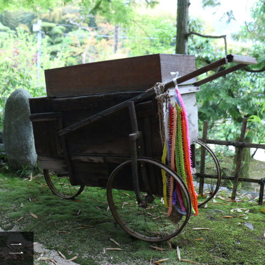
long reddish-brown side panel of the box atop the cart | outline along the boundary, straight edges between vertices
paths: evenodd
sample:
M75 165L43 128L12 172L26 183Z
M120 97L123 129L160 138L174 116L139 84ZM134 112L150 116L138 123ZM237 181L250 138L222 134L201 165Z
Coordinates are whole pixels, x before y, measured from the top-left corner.
M159 54L45 70L48 97L146 90L161 82Z

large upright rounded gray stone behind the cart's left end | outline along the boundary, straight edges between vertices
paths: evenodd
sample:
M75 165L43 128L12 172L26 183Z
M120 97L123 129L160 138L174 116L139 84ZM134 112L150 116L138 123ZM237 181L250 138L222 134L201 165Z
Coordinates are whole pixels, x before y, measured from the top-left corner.
M6 157L12 171L32 169L37 161L34 136L29 120L29 98L22 88L15 90L7 99L4 116L4 145Z

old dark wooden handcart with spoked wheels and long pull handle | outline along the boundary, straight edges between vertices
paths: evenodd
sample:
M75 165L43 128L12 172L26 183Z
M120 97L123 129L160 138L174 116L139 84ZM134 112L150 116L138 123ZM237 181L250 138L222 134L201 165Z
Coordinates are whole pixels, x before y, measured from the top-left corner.
M196 82L199 74L227 62L238 64ZM47 97L29 101L35 148L48 186L62 198L77 196L85 186L107 188L112 215L131 236L150 242L176 236L191 215L191 199L178 174L160 162L163 146L150 87L166 82L165 90L170 89L170 72L180 72L176 82L188 112L193 167L200 156L195 144L202 147L202 157L211 157L197 163L194 174L198 191L208 192L207 198L200 197L202 205L218 190L221 170L213 152L198 141L195 92L199 85L253 63L254 58L229 54L195 70L193 56L154 54L46 70ZM214 168L216 178L208 179L207 168ZM175 223L166 214L161 169L175 179L187 202Z

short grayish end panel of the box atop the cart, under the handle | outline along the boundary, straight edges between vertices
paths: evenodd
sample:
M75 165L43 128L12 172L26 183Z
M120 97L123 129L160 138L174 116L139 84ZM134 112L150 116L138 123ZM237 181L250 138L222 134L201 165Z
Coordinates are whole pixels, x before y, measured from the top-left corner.
M170 72L178 72L183 76L196 70L194 55L183 54L160 54L162 82L170 82L173 77ZM191 84L196 82L196 77L182 83Z

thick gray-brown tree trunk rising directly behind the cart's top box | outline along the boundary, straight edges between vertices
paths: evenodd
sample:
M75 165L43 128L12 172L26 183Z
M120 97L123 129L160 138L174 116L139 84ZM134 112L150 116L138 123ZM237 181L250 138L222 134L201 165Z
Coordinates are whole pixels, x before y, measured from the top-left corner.
M178 0L176 54L188 54L189 0Z

